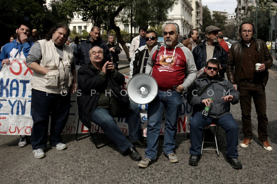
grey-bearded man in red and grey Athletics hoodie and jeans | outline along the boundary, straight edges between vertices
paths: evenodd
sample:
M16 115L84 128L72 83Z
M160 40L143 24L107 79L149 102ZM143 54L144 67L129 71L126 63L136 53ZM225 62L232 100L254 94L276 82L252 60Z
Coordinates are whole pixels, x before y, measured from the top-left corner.
M191 51L178 42L179 26L169 22L163 26L164 42L155 46L149 55L145 73L151 74L157 81L158 94L148 104L147 110L147 149L145 158L139 167L146 168L155 162L158 139L165 108L164 154L170 162L178 162L174 154L177 118L182 104L182 93L196 79L196 66Z

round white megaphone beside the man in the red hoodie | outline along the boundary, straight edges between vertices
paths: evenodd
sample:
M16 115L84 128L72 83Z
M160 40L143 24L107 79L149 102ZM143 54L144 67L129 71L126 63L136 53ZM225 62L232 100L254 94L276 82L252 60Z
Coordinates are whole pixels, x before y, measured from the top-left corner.
M136 74L127 83L127 94L136 104L148 104L158 94L158 83L149 74Z

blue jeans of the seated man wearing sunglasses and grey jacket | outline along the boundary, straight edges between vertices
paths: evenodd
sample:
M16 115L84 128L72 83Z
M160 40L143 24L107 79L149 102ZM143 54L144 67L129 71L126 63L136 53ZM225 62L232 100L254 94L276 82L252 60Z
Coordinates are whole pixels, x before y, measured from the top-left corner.
M226 114L219 119L202 115L202 112L196 112L190 122L190 154L201 155L202 132L205 126L216 124L222 127L226 134L227 150L226 156L237 158L238 127L232 114Z

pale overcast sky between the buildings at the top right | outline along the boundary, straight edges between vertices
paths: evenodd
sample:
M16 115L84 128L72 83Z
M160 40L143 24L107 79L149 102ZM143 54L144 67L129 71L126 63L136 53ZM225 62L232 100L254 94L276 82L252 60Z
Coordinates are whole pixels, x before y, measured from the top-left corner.
M237 7L236 0L202 0L202 5L208 5L209 10L227 11L228 14L233 14Z

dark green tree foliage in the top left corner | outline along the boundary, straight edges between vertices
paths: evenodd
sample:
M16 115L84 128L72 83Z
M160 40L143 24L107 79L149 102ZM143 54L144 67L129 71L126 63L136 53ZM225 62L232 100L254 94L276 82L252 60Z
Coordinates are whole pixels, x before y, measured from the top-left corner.
M30 29L38 29L42 37L57 22L69 22L67 17L57 15L55 3L52 3L52 10L46 9L44 3L45 0L15 0L12 3L1 0L0 26L4 29L0 35L0 44L8 43L8 38L15 34L18 24L22 22L30 24Z

